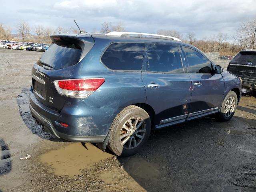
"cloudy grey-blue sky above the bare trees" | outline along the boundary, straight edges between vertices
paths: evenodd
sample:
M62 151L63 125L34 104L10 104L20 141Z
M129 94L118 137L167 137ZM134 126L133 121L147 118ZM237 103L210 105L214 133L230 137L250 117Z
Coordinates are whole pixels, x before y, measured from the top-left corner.
M105 21L121 22L125 31L156 33L177 30L197 39L228 34L232 40L240 23L256 19L256 0L2 0L0 23L17 32L17 24L74 28L99 32Z

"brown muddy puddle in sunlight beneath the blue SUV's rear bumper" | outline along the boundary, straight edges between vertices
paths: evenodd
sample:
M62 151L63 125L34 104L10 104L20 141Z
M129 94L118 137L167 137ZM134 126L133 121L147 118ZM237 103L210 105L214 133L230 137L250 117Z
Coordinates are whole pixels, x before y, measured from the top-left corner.
M85 144L85 147L82 143L72 143L40 155L40 160L50 166L49 172L57 176L68 175L73 178L81 174L81 169L90 168L95 163L112 156L90 143Z

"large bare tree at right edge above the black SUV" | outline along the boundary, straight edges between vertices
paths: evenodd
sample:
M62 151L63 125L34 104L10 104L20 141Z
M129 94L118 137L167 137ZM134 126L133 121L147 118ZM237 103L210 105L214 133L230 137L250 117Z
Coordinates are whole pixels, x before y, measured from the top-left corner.
M256 19L242 22L236 30L235 39L245 48L256 48Z

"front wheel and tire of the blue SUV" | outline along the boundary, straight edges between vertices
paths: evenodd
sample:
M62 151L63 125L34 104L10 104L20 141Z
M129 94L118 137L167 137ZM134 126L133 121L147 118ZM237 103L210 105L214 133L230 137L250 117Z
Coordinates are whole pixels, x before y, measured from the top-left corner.
M236 93L234 91L229 91L222 102L220 112L217 114L216 119L220 122L229 121L236 111L237 101L238 99ZM229 103L231 104L229 105Z

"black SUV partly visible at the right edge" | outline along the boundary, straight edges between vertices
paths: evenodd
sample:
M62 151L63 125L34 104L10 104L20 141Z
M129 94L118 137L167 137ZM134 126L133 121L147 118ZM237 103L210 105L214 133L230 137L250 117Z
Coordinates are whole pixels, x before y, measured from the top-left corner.
M240 51L230 61L227 70L242 78L244 88L256 90L256 50Z

